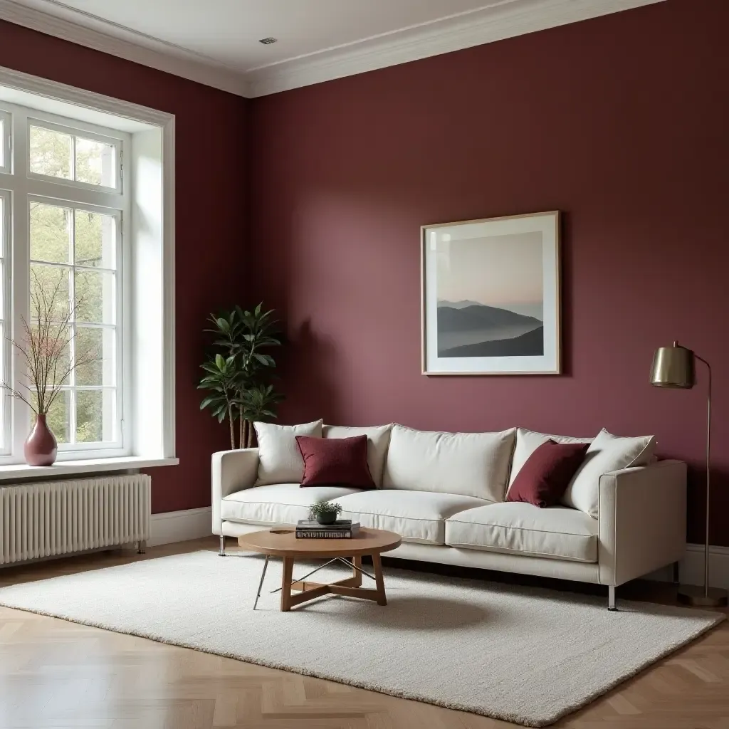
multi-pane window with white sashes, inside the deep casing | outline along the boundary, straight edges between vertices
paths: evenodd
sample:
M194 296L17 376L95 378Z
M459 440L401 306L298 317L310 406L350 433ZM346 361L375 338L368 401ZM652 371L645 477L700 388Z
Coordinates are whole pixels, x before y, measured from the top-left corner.
M48 413L59 460L125 455L128 409L123 363L129 215L123 179L128 134L0 101L0 139L15 138L0 157L0 334L18 338L23 322L39 326L37 303L52 326L68 322L69 362ZM20 285L19 285L20 282ZM12 300L5 292L12 291ZM58 324L56 324L58 323ZM27 380L20 357L0 344L4 381ZM17 460L33 413L2 397L0 456ZM31 394L31 402L34 396ZM82 452L82 453L79 453ZM22 459L22 458L21 458ZM1 460L1 459L0 459Z

